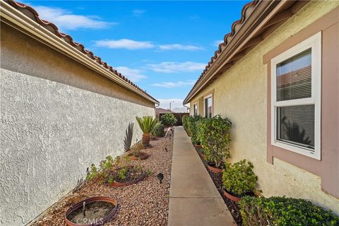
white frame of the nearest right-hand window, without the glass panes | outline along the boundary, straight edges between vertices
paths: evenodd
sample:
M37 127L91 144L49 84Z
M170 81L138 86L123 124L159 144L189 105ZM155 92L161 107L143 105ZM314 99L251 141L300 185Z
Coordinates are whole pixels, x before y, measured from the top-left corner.
M307 49L311 48L311 97L298 100L276 100L276 66L282 61L289 59ZM321 160L321 32L316 33L307 40L300 42L274 57L270 61L271 73L271 144L279 148L284 148L301 155ZM314 105L314 150L303 148L298 145L291 145L276 138L277 107L293 105Z

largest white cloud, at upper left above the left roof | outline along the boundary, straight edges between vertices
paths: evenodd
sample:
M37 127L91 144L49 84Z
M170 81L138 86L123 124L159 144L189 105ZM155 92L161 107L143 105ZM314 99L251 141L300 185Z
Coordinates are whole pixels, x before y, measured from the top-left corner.
M97 16L76 15L62 8L52 8L47 6L34 6L40 18L48 20L58 26L60 30L76 30L78 28L107 28L109 23L100 20Z

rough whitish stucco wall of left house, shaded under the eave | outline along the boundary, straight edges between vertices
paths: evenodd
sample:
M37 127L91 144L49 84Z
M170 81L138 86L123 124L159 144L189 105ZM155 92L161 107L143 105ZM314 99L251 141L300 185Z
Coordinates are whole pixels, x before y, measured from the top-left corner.
M0 225L25 225L106 155L154 103L1 23Z

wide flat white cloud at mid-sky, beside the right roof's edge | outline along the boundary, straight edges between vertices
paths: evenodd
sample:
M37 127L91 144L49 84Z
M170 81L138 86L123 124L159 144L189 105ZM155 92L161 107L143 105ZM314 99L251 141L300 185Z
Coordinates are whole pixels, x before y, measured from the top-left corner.
M197 62L162 62L160 64L147 64L148 69L161 73L178 73L202 71L206 64Z

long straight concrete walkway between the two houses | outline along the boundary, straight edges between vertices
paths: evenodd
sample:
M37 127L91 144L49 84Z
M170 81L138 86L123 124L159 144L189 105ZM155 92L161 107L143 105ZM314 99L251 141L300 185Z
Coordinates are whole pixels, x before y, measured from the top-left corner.
M174 129L169 226L236 225L189 136Z

